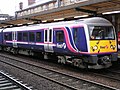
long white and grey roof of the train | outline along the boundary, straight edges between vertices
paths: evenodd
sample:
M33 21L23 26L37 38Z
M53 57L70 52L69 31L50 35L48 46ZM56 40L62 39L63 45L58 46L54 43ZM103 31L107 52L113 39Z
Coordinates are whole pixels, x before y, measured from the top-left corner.
M101 17L93 17L93 18L85 18L73 21L62 21L62 22L53 22L53 23L45 23L45 24L33 24L28 26L21 26L21 27L13 27L13 28L6 28L3 32L7 31L24 31L24 30L37 30L37 29L45 29L45 28L52 28L52 27L63 27L63 26L71 26L71 25L100 25L100 26L111 26L112 24Z

